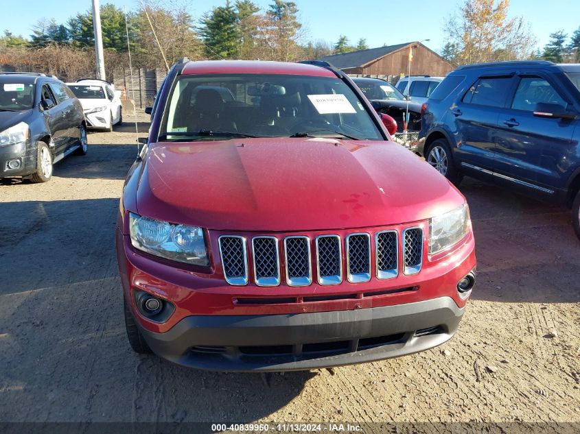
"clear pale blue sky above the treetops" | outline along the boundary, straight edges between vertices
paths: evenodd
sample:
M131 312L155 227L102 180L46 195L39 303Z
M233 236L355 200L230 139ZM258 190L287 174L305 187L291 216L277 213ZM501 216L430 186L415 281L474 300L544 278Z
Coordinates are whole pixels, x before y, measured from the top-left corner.
M217 0L159 0L170 4L178 1L198 19L202 14L225 1ZM271 0L254 0L268 8ZM233 2L233 1L232 1ZM369 47L395 45L429 39L425 45L440 51L445 44L443 25L448 17L459 10L463 0L294 0L299 18L305 27L307 40L327 40L336 43L341 34L356 45L360 38L367 39ZM138 0L100 0L113 3L128 11L139 8ZM28 37L40 19L56 19L65 23L70 16L91 8L91 0L0 0L0 32ZM509 15L523 16L537 38L537 46L544 47L550 33L559 29L570 36L580 27L580 1L511 0Z

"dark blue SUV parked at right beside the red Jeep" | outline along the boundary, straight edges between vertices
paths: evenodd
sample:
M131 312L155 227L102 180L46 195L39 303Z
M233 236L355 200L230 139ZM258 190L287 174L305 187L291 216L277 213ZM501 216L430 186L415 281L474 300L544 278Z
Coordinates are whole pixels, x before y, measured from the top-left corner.
M421 107L418 152L572 208L580 238L580 64L494 62L450 73Z

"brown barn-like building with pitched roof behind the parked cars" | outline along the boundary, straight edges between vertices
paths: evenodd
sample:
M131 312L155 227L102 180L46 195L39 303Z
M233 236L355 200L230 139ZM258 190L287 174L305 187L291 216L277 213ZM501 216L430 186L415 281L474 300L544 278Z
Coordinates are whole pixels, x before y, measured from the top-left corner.
M450 62L418 42L334 54L318 60L325 60L349 75L398 77L408 75L409 46L413 46L411 75L437 77L455 69Z

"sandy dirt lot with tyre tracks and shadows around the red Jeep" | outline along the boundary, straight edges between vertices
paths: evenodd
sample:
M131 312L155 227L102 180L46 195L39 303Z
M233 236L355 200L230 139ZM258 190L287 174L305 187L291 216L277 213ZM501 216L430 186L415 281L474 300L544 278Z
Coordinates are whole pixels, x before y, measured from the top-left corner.
M580 422L580 243L568 212L471 179L461 190L478 284L443 346L268 376L131 352L113 248L137 153L129 121L90 134L89 154L60 162L47 184L0 183L0 422Z

